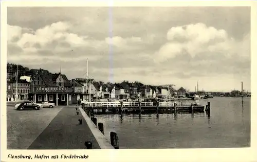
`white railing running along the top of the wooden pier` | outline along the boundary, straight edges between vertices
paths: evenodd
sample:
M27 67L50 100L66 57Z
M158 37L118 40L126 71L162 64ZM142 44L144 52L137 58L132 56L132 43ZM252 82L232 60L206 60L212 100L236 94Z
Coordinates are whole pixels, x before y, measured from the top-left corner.
M199 106L199 102L175 102L177 106ZM85 102L85 107L120 107L120 102ZM124 107L139 107L139 102L123 102ZM141 107L154 106L154 102L141 102ZM161 107L174 106L174 102L159 102Z

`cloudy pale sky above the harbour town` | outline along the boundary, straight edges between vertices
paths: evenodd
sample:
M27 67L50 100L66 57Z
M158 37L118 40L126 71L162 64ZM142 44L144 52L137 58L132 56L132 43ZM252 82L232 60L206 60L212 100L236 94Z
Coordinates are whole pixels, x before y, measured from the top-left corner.
M68 79L250 91L249 7L9 7L7 61Z

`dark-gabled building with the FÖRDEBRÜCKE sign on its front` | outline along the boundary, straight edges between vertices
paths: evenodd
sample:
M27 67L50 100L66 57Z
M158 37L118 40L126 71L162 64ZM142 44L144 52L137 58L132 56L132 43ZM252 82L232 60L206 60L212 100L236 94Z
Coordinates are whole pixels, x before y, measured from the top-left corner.
M43 101L58 105L71 104L72 86L64 74L38 73L31 83L30 99L35 103Z

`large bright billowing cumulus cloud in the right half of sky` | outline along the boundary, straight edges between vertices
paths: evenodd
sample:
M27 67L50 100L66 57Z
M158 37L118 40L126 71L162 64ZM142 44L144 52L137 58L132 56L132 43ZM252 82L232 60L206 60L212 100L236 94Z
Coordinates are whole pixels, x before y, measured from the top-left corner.
M237 52L234 49L237 49L238 43L242 42L229 37L225 30L202 23L172 27L167 33L167 42L156 52L155 60L163 62L185 53L192 58L209 53L217 57L231 57ZM241 49L249 54L249 39L244 39L243 43L245 47Z

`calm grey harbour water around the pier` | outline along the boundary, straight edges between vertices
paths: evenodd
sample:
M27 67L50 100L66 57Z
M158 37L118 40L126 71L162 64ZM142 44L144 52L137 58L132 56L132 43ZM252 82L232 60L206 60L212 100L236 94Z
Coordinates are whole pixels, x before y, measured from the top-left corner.
M96 115L105 136L114 131L120 149L250 147L251 98L215 97L206 113ZM200 100L203 105L207 100Z

